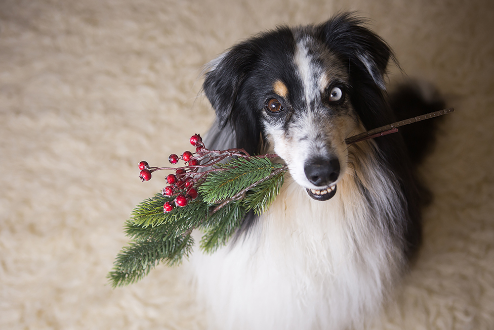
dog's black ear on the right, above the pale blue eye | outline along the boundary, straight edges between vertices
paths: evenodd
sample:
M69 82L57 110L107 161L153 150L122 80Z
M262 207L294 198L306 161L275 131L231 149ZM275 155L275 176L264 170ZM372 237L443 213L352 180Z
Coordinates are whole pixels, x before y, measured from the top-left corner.
M384 75L393 53L386 42L365 28L363 23L365 20L354 14L343 13L320 25L320 31L329 48L350 61L350 69L356 65L385 90Z

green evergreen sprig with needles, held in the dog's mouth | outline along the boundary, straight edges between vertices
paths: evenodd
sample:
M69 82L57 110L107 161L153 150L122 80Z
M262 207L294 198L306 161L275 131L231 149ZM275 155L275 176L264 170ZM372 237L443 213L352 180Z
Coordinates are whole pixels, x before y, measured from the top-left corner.
M157 193L133 209L124 225L131 242L117 255L108 274L113 287L135 283L161 262L180 264L192 252L191 233L196 228L203 232L200 248L207 253L216 251L241 227L248 211L259 215L274 201L283 185L286 165L273 163L266 155L251 157L236 149L208 152L215 155L213 164L206 163L209 167L197 173L199 196L186 207L164 212L164 204L173 197ZM238 158L219 164L225 155Z

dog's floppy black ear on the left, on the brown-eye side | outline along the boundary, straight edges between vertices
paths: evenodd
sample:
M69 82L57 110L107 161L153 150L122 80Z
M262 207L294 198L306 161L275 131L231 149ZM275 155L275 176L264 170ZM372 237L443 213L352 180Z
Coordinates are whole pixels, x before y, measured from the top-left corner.
M239 90L255 62L255 50L249 43L238 44L206 66L203 90L216 111L220 126L232 114Z

